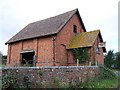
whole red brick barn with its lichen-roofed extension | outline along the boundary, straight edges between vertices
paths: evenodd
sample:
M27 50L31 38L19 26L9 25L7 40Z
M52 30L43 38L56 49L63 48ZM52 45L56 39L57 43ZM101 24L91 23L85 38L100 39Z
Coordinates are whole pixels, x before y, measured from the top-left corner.
M91 62L104 64L100 30L87 32L78 9L28 24L8 44L7 66L76 65L72 50L87 48ZM99 53L96 52L99 51Z

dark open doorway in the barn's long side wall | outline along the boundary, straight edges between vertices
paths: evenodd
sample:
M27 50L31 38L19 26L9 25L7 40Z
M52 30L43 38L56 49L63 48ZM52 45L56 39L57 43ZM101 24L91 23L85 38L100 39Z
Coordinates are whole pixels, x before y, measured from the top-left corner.
M22 66L34 66L35 51L22 51L20 54Z

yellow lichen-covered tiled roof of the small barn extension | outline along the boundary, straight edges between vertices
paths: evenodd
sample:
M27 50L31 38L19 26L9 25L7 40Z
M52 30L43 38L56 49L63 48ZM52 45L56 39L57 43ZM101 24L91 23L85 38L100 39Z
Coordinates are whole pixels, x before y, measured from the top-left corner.
M95 42L100 30L82 32L74 36L67 49L90 47Z

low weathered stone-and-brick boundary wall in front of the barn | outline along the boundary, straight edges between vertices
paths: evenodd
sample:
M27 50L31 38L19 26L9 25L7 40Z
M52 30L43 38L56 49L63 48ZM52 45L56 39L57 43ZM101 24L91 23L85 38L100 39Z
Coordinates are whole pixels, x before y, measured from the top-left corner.
M30 87L49 88L55 86L54 80L59 79L63 85L74 85L84 82L87 78L95 77L99 73L97 66L54 66L54 67L5 67L2 76L9 75L17 78L19 87L25 86L24 77L30 80ZM4 87L3 87L4 88Z

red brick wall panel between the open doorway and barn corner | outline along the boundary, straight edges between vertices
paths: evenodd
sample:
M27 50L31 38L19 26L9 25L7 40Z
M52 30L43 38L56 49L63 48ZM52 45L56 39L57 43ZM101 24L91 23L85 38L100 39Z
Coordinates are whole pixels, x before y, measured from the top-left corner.
M37 66L53 65L53 37L38 39Z

